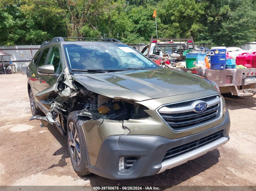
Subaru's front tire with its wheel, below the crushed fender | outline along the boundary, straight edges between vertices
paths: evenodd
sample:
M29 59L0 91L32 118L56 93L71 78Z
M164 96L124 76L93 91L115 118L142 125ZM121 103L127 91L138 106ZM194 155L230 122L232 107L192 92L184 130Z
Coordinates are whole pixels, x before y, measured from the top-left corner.
M86 120L86 117L78 116L77 111L73 111L69 114L67 123L67 140L71 163L75 172L81 176L90 174L85 153L85 141L80 130ZM78 160L79 155L80 160Z

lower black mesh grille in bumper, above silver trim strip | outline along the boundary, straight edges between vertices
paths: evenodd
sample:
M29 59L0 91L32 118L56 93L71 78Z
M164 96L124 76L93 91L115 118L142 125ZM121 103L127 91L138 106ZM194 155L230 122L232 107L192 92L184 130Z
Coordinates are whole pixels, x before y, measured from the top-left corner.
M200 148L204 145L207 145L211 142L214 142L216 141L217 139L223 137L223 130L221 131L218 131L216 133L213 133L211 135L208 135L204 138L200 138L198 140L195 140L195 141L192 141L192 142L189 142L187 144L184 144L184 145L180 145L178 147L174 147L174 148L170 148L166 154L165 154L165 157L163 158L163 161L166 161L166 160L169 160L169 159L172 159L172 158L175 158L175 157L178 157L179 155L181 154L185 154L189 151L193 151L197 148ZM162 161L162 162L163 162Z

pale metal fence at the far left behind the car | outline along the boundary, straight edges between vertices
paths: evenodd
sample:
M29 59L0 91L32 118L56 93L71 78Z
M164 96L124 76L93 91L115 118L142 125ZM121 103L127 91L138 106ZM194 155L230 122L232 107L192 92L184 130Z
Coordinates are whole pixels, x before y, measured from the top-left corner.
M3 56L4 63L7 64L11 60L12 63L15 64L16 72L20 72L21 67L29 65L40 46L41 45L0 46L0 50L12 55L10 58L9 56ZM0 59L2 63L2 56L0 56ZM6 69L11 69L11 66L8 66Z

